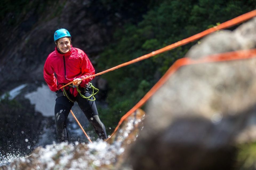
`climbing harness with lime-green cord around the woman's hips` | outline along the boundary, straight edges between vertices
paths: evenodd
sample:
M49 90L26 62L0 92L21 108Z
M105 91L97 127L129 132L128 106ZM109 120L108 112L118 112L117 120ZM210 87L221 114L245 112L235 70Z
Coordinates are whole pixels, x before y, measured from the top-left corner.
M90 100L90 101L96 100L96 98L94 97L94 95L96 95L96 94L99 92L99 89L96 88L96 87L94 87L93 84L90 83L90 82L86 84L86 87L83 87L83 92L88 92L89 89L91 89L91 91L89 91L89 92L91 93L91 95L88 96L88 97L86 97L86 96L84 96L84 95L82 94L82 92L81 92L81 90L79 89L78 86L73 86L73 85L69 84L68 87L69 87L69 89L70 89L71 87L72 87L72 88L75 88L75 87L76 87L76 88L77 88L77 92L80 94L80 96L81 96L82 98L87 99L87 100ZM68 89L68 90L69 90L69 89ZM70 96L70 95L68 94L68 92L67 92L67 90L66 90L65 88L63 88L63 93L58 93L58 94L57 94L57 97L61 97L61 96L65 96L67 99L69 99L70 102L73 102L73 103L75 102L75 99L74 99L72 96ZM90 99L91 97L93 97L93 99Z

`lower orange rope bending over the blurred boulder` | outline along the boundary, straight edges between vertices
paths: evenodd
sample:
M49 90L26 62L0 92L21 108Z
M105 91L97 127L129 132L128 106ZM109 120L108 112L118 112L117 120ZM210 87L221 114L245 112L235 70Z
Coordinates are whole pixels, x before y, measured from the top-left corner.
M230 60L239 60L239 59L249 59L256 57L256 49L252 50L241 50L241 51L232 51L222 54L210 55L205 58L193 60L190 58L181 58L178 59L174 64L166 71L166 73L159 79L159 81L147 92L147 94L133 107L129 110L123 117L120 119L117 127L114 132L111 134L111 137L117 131L122 122L140 108L146 101L167 81L167 79L176 72L181 66L190 65L190 64L200 64L200 63L211 63L211 62L221 62L221 61L230 61ZM110 137L109 137L110 138ZM108 138L108 139L109 139ZM107 139L107 140L108 140Z

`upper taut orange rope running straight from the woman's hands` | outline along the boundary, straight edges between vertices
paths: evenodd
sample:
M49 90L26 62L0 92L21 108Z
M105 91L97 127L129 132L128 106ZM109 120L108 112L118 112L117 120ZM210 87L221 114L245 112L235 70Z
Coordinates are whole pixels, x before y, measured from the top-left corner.
M91 78L91 77L95 77L95 76L98 76L98 75L102 75L102 74L105 74L106 72L110 72L110 71L113 71L113 70L115 70L115 69L118 69L118 68L121 68L121 67L130 65L130 64L139 62L139 61L141 61L141 60L150 58L150 57L152 57L152 56L155 56L155 55L160 54L160 53L162 53L162 52L171 50L171 49L173 49L173 48L176 48L176 47L179 47L179 46L183 46L183 45L185 45L185 44L187 44L187 43L189 43L189 42L193 42L193 41L195 41L195 40L197 40L197 39L200 39L200 38L202 38L202 37L204 37L204 36L206 36L206 35L208 35L208 34L210 34L210 33L213 33L214 31L221 30L221 29L224 29L224 28L229 28L229 27L234 26L234 25L236 25L236 24L238 24L238 23L241 23L241 22L244 22L244 21L246 21L246 20L248 20L248 19L250 19L250 18L253 18L253 17L255 17L255 16L256 16L256 10L250 11L250 12L245 13L245 14L243 14L243 15L240 15L240 16L234 18L234 19L231 19L231 20L229 20L229 21L223 22L223 23L221 23L220 25L211 27L210 29L207 29L207 30L205 30L205 31L203 31L203 32L201 32L201 33L195 34L195 35L193 35L193 36L191 36L191 37L189 37L189 38L183 39L183 40L178 41L178 42L176 42L176 43L173 43L173 44L171 44L171 45L169 45L169 46L163 47L163 48L161 48L161 49L159 49L159 50L156 50L156 51L153 51L153 52L151 52L151 53L149 53L149 54L146 54L146 55L143 55L143 56L141 56L141 57L135 58L135 59L133 59L133 60L131 60L131 61L129 61L129 62L119 64L118 66L109 68L109 69L107 69L107 70L105 70L105 71L102 71L102 72L99 72L99 73L97 73L97 74L88 76L88 77L83 78L83 79L81 79L81 80L85 80L85 79L88 79L88 78ZM81 80L79 80L79 81L81 81ZM61 88L65 87L65 86L68 86L69 84L74 83L74 82L75 82L75 81L70 82L70 83L68 83L68 84L66 84L66 85L64 85L64 86L62 86ZM78 81L76 81L76 82L78 82ZM60 88L60 89L61 89L61 88Z

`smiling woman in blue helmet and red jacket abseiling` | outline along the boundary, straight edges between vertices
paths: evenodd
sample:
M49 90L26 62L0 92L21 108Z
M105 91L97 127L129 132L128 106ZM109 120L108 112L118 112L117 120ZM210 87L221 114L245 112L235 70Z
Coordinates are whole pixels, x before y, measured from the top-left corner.
M95 74L93 65L85 52L72 47L71 35L66 29L55 31L54 42L56 47L46 59L43 76L50 90L57 93L54 114L59 142L69 141L66 125L67 116L75 101L93 125L98 136L101 139L106 139L105 126L99 119L95 102L82 97L91 96L91 90L87 83L93 78L81 79ZM66 86L60 89L60 87L72 81L77 82L73 84L73 87ZM75 87L78 87L78 89ZM81 94L79 94L79 91L81 91ZM90 99L92 98L93 96Z

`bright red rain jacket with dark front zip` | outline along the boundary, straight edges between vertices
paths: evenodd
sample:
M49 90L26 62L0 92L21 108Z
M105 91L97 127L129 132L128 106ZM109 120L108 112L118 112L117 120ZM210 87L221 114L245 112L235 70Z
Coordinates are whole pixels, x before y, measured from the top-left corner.
M59 53L55 47L55 51L48 55L43 68L43 77L51 91L59 90L61 86L72 82L75 78L83 79L94 74L95 69L85 52L72 46L65 54ZM93 78L82 80L79 86L85 87ZM70 88L70 92L73 96L78 94L76 88Z

